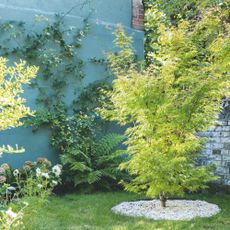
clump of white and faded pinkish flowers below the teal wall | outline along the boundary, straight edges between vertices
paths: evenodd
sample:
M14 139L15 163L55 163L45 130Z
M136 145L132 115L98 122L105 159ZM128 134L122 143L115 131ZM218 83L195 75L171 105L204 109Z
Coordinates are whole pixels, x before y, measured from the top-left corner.
M22 168L13 170L8 164L0 167L0 202L7 204L14 198L49 196L54 187L61 182L61 165L52 167L46 158L36 162L26 161Z

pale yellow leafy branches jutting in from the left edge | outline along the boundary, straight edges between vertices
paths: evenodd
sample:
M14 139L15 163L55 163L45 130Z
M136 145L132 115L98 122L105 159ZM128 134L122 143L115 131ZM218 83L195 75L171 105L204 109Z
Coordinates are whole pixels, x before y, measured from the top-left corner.
M26 67L23 61L7 67L7 60L0 57L0 131L22 125L20 119L31 115L30 109L24 105L22 85L29 84L37 71L37 67ZM7 150L13 151L11 147L3 147L0 153Z

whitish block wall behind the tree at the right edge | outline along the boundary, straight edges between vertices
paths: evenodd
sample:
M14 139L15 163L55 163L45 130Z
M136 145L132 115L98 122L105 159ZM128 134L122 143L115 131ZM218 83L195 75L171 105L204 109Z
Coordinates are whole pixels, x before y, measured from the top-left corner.
M211 127L202 136L208 138L201 158L202 164L214 164L219 182L230 185L230 100L224 101L224 109L218 125Z

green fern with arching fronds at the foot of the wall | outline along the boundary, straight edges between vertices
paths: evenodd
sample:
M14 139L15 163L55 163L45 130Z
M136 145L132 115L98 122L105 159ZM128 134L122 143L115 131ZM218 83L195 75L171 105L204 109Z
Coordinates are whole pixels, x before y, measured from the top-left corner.
M116 187L124 174L118 170L127 155L125 150L118 150L124 139L123 135L110 133L89 143L82 137L81 144L61 156L67 180L84 191Z

